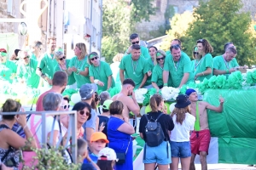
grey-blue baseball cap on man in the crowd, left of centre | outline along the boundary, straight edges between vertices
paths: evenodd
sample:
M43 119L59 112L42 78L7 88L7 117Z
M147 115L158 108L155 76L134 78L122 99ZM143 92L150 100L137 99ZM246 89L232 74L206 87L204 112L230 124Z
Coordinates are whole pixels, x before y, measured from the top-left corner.
M92 95L97 91L98 87L96 83L85 83L79 89L81 99L90 99Z

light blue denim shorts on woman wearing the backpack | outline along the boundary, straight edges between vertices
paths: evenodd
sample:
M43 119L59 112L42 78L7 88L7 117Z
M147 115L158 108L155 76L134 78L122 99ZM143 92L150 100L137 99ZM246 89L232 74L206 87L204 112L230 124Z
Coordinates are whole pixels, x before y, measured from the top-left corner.
M166 144L168 144L168 155ZM150 147L145 144L146 155L143 163L158 163L160 165L167 165L172 163L171 161L171 147L169 142L163 141L161 144L155 147ZM145 150L145 148L144 148Z

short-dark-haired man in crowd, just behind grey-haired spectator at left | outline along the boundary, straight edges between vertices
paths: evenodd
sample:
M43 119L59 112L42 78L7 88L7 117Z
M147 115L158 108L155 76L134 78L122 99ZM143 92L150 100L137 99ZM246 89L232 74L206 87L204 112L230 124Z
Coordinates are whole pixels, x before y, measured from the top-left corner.
M63 71L56 71L52 79L52 88L50 88L49 91L46 91L44 92L44 94L41 94L39 96L36 111L44 111L43 99L46 94L49 94L50 92L62 94L66 86L67 86L67 73Z

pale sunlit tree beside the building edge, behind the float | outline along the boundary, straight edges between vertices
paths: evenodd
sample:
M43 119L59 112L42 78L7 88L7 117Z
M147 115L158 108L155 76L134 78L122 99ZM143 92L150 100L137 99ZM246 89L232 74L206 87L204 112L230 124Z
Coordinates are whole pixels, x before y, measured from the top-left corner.
M135 31L135 25L141 20L149 20L154 14L153 0L103 1L102 56L112 62L115 54L124 54L129 47L129 36Z

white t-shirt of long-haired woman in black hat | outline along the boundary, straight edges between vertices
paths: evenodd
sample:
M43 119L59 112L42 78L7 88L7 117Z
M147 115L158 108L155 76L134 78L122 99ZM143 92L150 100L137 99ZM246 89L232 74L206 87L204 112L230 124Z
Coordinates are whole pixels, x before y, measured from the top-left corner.
M194 130L195 116L186 113L183 124L176 122L176 115L172 117L174 128L171 132L171 141L173 142L189 142L189 131Z

